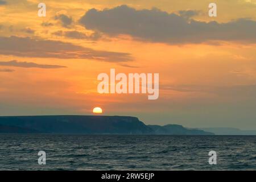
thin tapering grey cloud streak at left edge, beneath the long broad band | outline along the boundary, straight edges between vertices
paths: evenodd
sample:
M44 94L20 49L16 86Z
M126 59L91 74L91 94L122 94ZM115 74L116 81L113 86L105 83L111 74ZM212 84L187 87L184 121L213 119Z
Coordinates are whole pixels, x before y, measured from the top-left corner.
M0 61L1 66L10 66L10 67L22 67L22 68L46 68L46 69L53 69L53 68L67 68L61 65L49 65L49 64L36 64L31 62L18 62L16 60L13 61Z

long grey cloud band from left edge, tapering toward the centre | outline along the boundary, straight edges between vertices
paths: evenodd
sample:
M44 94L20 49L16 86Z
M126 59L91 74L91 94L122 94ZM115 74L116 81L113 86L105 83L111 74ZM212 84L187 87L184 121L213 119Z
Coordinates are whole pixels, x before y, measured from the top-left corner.
M0 55L19 57L52 57L59 59L92 59L108 62L131 61L129 53L97 51L55 40L0 36Z

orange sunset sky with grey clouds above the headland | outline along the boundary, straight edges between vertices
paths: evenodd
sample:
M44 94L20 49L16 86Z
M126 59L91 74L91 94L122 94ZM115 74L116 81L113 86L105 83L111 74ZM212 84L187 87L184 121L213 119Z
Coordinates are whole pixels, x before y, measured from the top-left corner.
M38 4L46 4L46 17ZM256 0L0 1L0 115L130 115L256 129ZM100 73L159 73L159 98Z

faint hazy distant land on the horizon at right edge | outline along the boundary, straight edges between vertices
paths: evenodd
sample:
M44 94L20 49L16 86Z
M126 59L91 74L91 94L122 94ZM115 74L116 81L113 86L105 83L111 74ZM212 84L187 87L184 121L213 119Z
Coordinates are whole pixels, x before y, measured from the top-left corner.
M256 130L240 130L233 127L209 127L200 130L212 132L216 135L256 135Z

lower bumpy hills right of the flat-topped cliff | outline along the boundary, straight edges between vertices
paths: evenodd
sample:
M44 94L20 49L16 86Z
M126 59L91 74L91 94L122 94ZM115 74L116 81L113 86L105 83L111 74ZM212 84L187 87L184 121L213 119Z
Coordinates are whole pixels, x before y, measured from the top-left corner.
M210 132L196 129L186 129L181 125L147 125L158 135L214 135Z

